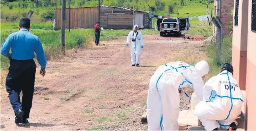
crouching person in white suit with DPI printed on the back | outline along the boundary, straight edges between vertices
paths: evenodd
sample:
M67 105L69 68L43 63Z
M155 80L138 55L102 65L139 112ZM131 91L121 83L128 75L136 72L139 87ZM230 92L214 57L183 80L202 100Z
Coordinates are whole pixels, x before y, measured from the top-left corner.
M243 95L233 67L223 64L221 73L209 79L203 86L203 101L195 107L196 116L206 130L237 129L236 119L241 114Z

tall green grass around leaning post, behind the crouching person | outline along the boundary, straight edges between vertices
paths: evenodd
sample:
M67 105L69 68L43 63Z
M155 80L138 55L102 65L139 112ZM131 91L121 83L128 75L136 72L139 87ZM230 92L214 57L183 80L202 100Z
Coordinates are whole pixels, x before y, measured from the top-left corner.
M217 66L217 43L212 42L206 48L211 76L217 75L221 67ZM221 64L232 62L232 35L225 36L221 45ZM209 76L209 77L211 77Z

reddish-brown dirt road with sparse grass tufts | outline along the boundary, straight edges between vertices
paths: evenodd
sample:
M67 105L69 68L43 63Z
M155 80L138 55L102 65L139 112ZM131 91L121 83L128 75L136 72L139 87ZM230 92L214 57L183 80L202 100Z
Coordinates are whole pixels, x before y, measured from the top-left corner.
M1 130L146 130L140 117L155 69L171 61L197 62L205 54L201 41L144 35L140 67L132 67L124 39L102 41L48 62L46 76L36 74L29 125L14 124L2 84ZM181 110L186 108L182 101Z

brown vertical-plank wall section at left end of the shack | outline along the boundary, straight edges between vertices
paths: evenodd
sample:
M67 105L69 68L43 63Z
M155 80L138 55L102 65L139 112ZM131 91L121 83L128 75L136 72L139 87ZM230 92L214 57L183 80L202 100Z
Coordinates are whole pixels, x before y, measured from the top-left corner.
M70 28L93 28L98 21L98 8L71 8ZM66 9L66 29L69 28L69 9ZM55 30L61 29L61 9L55 9Z

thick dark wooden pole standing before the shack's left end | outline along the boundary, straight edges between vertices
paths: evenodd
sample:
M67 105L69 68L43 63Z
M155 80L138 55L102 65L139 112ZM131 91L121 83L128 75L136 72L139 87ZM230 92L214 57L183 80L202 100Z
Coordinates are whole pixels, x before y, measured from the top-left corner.
M61 51L65 54L66 0L62 0L61 6Z

